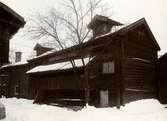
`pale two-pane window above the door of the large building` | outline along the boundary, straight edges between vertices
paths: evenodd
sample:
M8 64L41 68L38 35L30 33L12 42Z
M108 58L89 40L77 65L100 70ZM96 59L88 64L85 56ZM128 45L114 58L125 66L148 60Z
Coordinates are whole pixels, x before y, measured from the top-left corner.
M107 74L107 73L114 73L114 72L115 72L115 69L114 69L114 61L103 63L103 73L104 73L104 74Z

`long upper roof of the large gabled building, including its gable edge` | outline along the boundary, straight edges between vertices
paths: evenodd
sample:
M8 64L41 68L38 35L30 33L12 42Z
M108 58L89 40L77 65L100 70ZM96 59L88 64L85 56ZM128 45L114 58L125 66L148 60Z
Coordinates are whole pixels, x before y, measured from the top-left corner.
M58 53L67 52L67 51L69 51L69 50L77 50L77 49L84 48L84 47L86 47L86 46L88 46L88 45L91 45L91 44L97 44L97 43L102 44L102 43L105 43L105 42L104 42L104 41L101 41L101 39L104 39L104 38L107 38L107 37L111 37L111 38L112 38L112 37L114 37L114 36L116 36L116 35L123 35L123 34L126 34L127 32L129 32L129 31L131 31L131 30L134 30L134 29L136 29L137 27L139 27L139 26L141 26L141 25L144 25L144 26L145 26L146 30L148 31L150 37L151 37L152 40L153 40L153 44L155 45L155 47L156 47L157 50L159 51L159 50L160 50L160 47L159 47L159 45L158 45L158 43L157 43L155 37L153 36L153 34L152 34L152 32L151 32L151 30L150 30L150 28L149 28L149 26L148 26L148 24L147 24L145 18L142 18L142 19L140 19L140 20L138 20L138 21L136 21L136 22L134 22L134 23L132 23L132 24L130 24L130 25L128 25L128 26L125 26L125 27L123 27L123 28L117 30L116 32L107 33L107 34L105 34L105 35L98 36L98 37L96 37L96 38L93 38L91 41L87 41L87 42L82 43L82 44L80 44L80 45L74 45L74 46L72 46L72 47L70 47L70 48L67 48L67 49L64 49L64 50L60 50L60 51L53 51L53 50L52 50L52 51L49 51L49 52L47 52L47 53L44 53L43 55L40 55L40 56L34 58L34 59L31 59L31 60L29 60L29 61L38 60L38 59L45 58L45 57L50 57L50 56L53 56L53 55L58 54ZM110 40L111 40L111 39L110 39Z

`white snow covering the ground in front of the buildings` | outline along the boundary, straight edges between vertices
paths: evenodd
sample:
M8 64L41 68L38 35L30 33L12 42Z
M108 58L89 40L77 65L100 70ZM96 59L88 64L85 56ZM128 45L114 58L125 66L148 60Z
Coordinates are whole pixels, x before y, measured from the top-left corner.
M157 100L140 100L120 110L88 106L79 111L33 104L32 100L2 98L7 117L1 121L167 121L167 109Z

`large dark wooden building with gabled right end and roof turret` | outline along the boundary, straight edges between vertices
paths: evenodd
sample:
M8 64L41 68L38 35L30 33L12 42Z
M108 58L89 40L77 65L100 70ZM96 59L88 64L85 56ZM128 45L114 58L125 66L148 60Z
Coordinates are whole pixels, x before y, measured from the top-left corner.
M36 66L27 72L35 101L119 107L157 98L159 45L144 18L110 32L120 25L97 15L89 41L28 60Z

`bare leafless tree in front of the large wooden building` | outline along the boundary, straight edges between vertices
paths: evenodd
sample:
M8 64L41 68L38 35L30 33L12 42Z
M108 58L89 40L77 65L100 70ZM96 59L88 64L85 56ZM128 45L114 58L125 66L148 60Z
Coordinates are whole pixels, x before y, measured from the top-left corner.
M106 13L102 0L66 0L61 4L63 11L51 8L47 15L37 13L32 18L32 24L28 28L28 35L34 39L53 40L57 49L65 49L68 46L81 44L90 38L90 30L87 29L88 22L95 14ZM88 72L83 57L81 58L86 80L86 102L89 99ZM75 68L75 61L71 60Z

